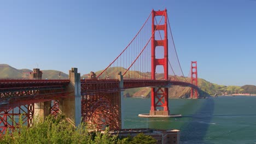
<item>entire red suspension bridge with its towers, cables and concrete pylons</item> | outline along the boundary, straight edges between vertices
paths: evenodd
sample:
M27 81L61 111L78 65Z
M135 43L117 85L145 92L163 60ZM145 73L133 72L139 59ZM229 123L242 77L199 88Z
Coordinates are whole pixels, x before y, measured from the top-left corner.
M197 98L199 89L196 62L191 62L190 77L183 74L166 9L152 10L120 55L106 69L90 76L81 80L77 68L72 68L69 80L40 80L42 73L34 69L31 77L36 80L0 80L1 134L13 129L19 116L30 126L34 116L58 113L64 113L74 125L82 118L91 128L109 125L118 130L124 89L151 87L151 116L170 115L169 87L190 87L190 98Z

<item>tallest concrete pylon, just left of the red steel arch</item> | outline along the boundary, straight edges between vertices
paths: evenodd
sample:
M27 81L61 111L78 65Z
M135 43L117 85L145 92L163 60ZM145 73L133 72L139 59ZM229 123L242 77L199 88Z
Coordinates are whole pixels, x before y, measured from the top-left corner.
M67 120L73 125L78 126L81 123L81 82L80 73L77 68L69 70L69 85L67 98L62 98L59 102L60 113L63 113Z

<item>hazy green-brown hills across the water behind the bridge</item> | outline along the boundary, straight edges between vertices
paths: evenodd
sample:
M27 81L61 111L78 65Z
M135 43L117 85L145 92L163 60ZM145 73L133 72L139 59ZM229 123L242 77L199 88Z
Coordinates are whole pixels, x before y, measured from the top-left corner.
M125 70L124 68L119 68ZM43 79L68 79L68 75L58 70L42 70ZM98 75L102 70L96 71L95 74ZM0 64L0 79L29 79L29 75L32 70L30 69L15 69L8 64ZM108 69L108 75L103 75L102 77L107 77L109 79L115 79L116 69ZM132 76L147 78L150 73L142 73L140 71L129 71ZM60 75L60 77L59 77ZM161 77L162 74L156 75L156 77ZM81 76L82 78L89 79L89 74ZM124 76L127 78L127 76ZM173 77L173 76L170 76ZM178 79L184 79L184 77L177 77ZM174 79L174 78L173 78ZM190 79L187 77L188 81ZM207 97L208 95L223 95L223 94L235 94L235 93L250 93L256 94L256 86L245 85L245 86L223 86L217 85L215 83L208 82L203 79L198 79L198 85L200 87L200 97ZM150 88L132 88L126 89L124 92L125 97L150 97ZM169 88L169 97L171 98L188 98L190 95L189 87L172 86Z

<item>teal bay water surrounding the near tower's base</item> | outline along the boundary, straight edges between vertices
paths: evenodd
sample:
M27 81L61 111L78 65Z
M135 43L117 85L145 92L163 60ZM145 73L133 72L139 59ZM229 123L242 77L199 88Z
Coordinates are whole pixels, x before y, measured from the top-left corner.
M181 130L181 143L256 143L256 97L169 99L181 118L140 118L150 99L124 99L125 128Z

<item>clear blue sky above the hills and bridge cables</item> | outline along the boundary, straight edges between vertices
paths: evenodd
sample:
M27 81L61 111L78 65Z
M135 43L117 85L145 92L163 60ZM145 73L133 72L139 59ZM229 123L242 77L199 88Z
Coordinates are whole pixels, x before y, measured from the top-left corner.
M81 74L106 68L152 9L167 9L184 74L256 85L255 0L0 1L0 63Z

